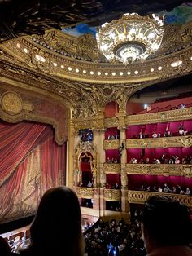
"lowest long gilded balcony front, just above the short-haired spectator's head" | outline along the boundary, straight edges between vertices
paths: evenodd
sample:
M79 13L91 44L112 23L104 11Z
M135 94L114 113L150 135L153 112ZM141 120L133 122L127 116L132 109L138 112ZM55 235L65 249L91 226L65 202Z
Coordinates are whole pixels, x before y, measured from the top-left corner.
M143 204L149 196L171 196L172 198L177 199L178 201L181 201L185 205L192 208L192 196L186 196L186 195L179 195L179 194L172 194L172 193L162 193L162 192L146 192L146 191L135 191L135 190L129 190L128 191L128 201L129 203L134 204Z

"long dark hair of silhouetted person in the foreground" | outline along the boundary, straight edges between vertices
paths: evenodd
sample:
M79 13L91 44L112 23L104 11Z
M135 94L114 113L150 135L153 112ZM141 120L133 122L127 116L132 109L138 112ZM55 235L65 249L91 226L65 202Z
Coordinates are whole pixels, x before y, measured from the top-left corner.
M84 254L81 210L76 193L70 188L50 188L42 196L30 227L33 254Z

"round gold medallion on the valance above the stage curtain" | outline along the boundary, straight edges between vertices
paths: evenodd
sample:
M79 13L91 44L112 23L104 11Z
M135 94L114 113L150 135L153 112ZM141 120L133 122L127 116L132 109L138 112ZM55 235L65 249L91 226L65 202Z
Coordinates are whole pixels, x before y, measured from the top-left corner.
M20 98L20 95L13 91L7 91L2 95L2 109L11 114L16 115L22 111L23 101Z

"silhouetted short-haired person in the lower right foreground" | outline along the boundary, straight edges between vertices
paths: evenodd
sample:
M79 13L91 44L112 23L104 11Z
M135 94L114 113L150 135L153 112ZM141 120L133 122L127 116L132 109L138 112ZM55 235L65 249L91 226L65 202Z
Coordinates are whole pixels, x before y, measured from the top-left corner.
M146 256L191 256L190 209L169 196L150 196L142 212Z

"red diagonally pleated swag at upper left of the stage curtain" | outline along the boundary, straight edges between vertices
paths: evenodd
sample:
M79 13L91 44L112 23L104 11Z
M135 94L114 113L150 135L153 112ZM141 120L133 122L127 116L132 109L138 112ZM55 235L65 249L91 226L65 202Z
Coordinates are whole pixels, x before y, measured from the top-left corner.
M50 126L37 123L0 123L0 185L49 131Z

